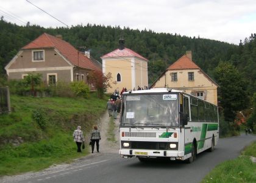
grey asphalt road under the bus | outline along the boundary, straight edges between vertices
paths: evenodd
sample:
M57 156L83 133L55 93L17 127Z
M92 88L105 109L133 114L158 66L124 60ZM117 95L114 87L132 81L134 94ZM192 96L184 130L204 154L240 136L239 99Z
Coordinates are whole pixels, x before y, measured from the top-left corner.
M198 154L192 164L180 161L140 162L134 157L123 159L117 150L111 153L94 153L76 164L42 171L15 182L200 182L220 162L239 156L240 151L253 140L256 140L256 136L245 134L220 139L212 153Z

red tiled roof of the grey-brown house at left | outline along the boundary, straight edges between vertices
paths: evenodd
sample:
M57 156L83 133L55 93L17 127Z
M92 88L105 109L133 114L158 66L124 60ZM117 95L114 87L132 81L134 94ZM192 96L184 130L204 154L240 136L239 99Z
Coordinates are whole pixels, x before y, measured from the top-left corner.
M60 38L49 35L48 33L43 33L37 39L24 46L22 49L45 49L51 47L59 50L60 54L62 54L74 66L79 66L91 70L101 70L101 68L96 66L96 64L94 64L84 54L78 52L78 50L75 49L71 44L61 40Z

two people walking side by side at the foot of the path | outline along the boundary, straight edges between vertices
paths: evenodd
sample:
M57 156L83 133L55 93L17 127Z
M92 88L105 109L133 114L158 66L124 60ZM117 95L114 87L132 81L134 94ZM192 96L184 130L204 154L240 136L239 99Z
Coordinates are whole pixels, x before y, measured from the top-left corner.
M77 126L77 129L73 133L73 138L74 138L74 142L76 142L76 145L77 145L77 152L81 153L82 152L81 146L82 144L85 143L84 134L81 130L81 126ZM90 139L91 139L90 141L91 153L93 153L94 151L95 143L96 143L97 152L99 153L99 140L101 140L101 133L99 132L98 126L96 125L93 126L93 131L91 131Z

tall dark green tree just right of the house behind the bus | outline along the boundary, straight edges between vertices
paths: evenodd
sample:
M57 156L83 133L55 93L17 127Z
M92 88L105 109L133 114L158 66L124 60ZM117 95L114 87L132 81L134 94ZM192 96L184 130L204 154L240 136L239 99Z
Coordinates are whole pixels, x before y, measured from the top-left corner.
M219 104L224 109L224 119L233 122L237 111L247 106L246 83L238 70L228 62L221 61L214 72L219 84Z

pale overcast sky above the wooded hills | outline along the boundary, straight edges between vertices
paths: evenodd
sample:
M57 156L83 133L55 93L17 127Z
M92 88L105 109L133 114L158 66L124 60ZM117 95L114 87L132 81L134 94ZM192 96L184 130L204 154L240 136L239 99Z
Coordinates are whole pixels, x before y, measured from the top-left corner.
M151 29L238 44L256 33L256 0L29 0L68 26ZM0 0L0 16L18 25L65 27L26 0Z

